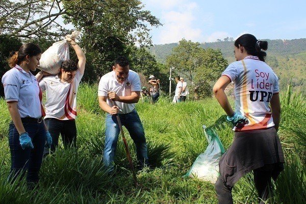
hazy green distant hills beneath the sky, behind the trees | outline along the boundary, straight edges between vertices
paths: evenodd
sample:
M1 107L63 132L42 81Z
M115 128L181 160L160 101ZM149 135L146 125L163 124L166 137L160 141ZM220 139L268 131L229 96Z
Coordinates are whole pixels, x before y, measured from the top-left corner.
M292 81L293 85L304 92L306 78L306 38L293 40L269 40L266 62L280 79L282 88ZM149 52L156 59L165 63L167 56L178 43L154 45ZM231 63L235 61L234 41L205 42L200 44L203 48L220 49L224 58ZM224 67L225 68L225 67Z

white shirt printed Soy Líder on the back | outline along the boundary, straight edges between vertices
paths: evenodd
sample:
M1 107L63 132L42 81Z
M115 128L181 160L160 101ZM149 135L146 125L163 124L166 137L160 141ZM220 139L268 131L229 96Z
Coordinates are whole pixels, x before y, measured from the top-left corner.
M235 131L274 126L269 104L279 87L278 78L269 65L256 56L248 56L228 65L222 75L235 83L235 111L249 120L242 129L234 127Z

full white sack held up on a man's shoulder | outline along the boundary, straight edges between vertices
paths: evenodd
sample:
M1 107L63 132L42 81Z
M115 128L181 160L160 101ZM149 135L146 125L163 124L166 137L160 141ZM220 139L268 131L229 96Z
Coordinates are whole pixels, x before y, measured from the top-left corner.
M77 38L80 35L79 31L73 31L70 38ZM69 60L69 44L68 41L61 40L53 43L45 52L41 55L39 69L48 72L50 74L58 74L62 66L63 61Z

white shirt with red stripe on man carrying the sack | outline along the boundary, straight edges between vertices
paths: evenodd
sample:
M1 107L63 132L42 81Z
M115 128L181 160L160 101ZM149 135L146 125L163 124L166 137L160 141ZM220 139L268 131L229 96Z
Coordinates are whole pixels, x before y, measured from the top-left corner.
M77 93L83 74L77 70L70 82L61 82L58 75L48 76L39 82L42 91L46 91L46 116L59 120L72 120L77 117Z

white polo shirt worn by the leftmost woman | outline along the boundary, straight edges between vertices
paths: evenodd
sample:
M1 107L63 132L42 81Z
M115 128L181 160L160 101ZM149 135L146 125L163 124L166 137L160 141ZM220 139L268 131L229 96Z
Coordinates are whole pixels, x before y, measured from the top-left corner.
M20 66L7 71L2 77L6 101L17 101L17 108L21 118L42 116L41 101L39 100L39 86L35 76L24 71Z

